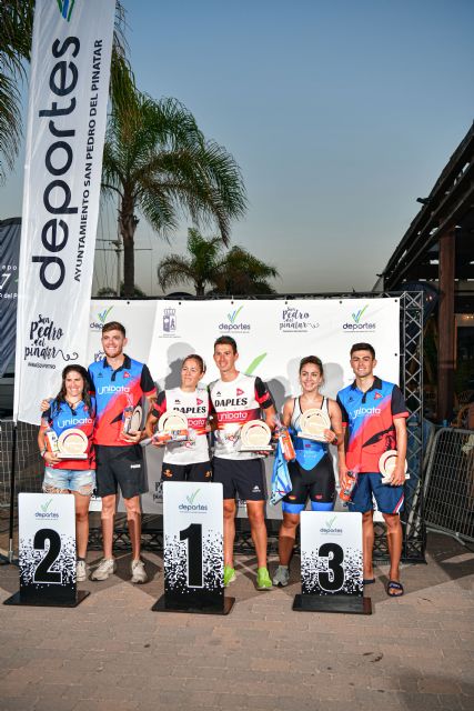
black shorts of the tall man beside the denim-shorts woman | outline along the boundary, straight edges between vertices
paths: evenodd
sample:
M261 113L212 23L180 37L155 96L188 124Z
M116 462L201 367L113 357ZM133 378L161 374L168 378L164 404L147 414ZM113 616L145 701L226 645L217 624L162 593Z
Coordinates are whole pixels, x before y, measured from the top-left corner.
M125 447L95 445L97 491L108 497L120 491L124 499L132 499L148 491L143 450L140 444Z

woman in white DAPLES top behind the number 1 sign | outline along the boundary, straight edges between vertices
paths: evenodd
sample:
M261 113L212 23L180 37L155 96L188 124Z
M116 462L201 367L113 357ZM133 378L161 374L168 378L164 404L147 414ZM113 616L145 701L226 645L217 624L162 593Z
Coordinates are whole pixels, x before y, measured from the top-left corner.
M205 373L201 356L188 356L181 367L181 385L162 390L147 419L147 437L152 437L162 414L179 410L188 418L190 440L163 444L152 441L154 447L164 447L162 481L211 481L208 432L209 392L198 388Z

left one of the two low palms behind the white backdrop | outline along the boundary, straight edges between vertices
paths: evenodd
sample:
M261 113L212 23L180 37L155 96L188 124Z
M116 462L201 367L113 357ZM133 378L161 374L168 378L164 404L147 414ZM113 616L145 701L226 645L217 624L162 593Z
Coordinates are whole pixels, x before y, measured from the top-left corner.
M188 230L188 252L190 257L170 254L158 264L158 281L160 287L192 282L198 297L205 293L205 284L213 284L218 273L219 256L222 251L220 237L205 239L195 229Z

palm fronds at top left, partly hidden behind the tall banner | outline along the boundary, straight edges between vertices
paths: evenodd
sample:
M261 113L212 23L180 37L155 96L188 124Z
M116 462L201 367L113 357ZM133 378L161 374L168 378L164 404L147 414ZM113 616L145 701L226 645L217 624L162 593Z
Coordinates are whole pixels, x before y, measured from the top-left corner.
M0 0L0 184L13 168L22 137L20 87L31 59L33 16L34 0ZM127 60L124 27L125 11L117 0L111 66L111 91L115 94L120 94L123 67L133 81Z

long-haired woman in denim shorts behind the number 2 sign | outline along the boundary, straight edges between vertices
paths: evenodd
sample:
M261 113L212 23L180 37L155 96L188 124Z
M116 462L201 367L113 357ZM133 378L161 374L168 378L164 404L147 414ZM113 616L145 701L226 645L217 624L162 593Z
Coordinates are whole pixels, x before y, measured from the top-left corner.
M95 454L92 443L95 401L89 390L85 368L67 365L62 371L61 390L50 400L48 410L41 413L38 433L38 445L44 459L43 492L74 495L78 581L85 580L88 572L85 553L89 540L89 502L95 489ZM70 459L65 459L51 451L49 433L61 441L68 438L68 431L71 431L71 438L79 441L79 444L83 440L80 459L75 459L73 452Z

